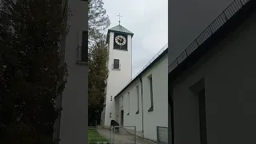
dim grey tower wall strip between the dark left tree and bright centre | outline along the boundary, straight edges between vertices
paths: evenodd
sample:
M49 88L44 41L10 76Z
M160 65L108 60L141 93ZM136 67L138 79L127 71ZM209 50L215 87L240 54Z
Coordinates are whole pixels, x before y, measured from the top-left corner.
M88 126L86 63L76 63L77 47L82 45L82 30L88 27L88 4L86 1L69 0L71 13L68 20L69 34L66 36L65 61L69 77L62 95L61 144L86 143Z

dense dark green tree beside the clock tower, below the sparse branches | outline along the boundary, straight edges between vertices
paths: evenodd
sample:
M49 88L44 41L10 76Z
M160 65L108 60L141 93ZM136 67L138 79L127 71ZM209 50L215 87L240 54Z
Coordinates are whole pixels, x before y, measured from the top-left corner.
M106 95L106 78L108 76L108 69L106 62L108 60L108 53L106 47L106 40L103 37L101 40L91 47L88 59L89 65L89 89L88 89L88 113L89 122L95 120L99 122L100 115L103 109L104 96Z

